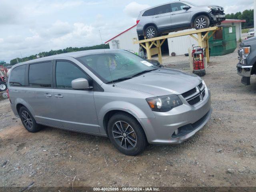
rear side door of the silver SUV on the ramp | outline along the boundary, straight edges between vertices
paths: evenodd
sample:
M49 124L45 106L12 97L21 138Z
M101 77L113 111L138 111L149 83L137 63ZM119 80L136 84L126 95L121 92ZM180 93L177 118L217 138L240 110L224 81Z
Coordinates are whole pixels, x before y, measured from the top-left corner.
M171 7L170 4L161 5L154 9L153 22L157 28L162 30L171 25Z

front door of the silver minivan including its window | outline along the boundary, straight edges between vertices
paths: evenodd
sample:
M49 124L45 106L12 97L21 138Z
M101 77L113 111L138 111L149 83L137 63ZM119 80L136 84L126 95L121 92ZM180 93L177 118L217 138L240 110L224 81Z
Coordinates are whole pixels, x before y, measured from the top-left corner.
M99 133L93 90L73 90L71 81L91 78L76 64L56 60L56 89L53 90L55 108L62 126L68 129Z

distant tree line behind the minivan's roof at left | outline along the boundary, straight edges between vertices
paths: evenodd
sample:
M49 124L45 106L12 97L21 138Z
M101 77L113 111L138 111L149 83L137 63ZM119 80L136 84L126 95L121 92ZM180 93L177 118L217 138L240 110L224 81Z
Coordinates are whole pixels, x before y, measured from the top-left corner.
M68 53L68 52L74 52L74 51L84 51L84 50L92 50L92 49L109 49L109 44L100 44L100 45L94 45L94 46L89 46L89 47L67 47L65 49L59 49L59 50L50 50L48 52L40 52L35 55L30 55L28 57L24 58L15 58L10 61L10 65L17 64L18 62L25 62L29 61L32 59L40 58L40 57L46 57L46 56L51 56L51 55L56 55L56 54L62 54L62 53Z

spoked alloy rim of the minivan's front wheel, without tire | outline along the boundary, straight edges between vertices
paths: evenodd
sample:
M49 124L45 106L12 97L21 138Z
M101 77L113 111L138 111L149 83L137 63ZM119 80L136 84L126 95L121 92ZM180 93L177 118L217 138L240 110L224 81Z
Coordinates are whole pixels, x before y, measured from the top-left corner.
M133 149L137 144L137 137L130 124L124 121L117 121L112 127L114 140L126 150Z

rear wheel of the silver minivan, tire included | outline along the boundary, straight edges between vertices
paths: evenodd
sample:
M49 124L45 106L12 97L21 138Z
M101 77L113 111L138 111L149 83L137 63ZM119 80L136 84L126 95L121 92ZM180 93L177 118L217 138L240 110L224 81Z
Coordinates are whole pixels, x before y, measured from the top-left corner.
M20 108L19 114L20 114L20 120L23 126L26 128L26 130L32 133L38 132L39 130L41 130L42 126L36 123L34 117L26 107L22 106Z

